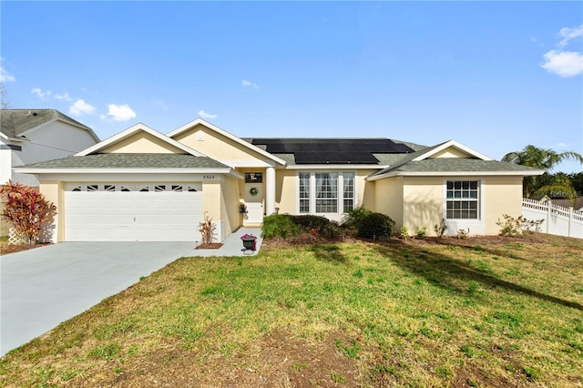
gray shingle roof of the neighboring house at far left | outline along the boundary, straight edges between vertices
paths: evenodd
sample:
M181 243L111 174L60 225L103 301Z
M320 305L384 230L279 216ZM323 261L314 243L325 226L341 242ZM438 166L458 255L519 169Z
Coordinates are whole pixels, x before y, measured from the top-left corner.
M63 121L87 130L91 137L99 141L93 129L68 117L56 109L2 109L0 111L0 132L6 138L26 138L26 132L54 121Z

